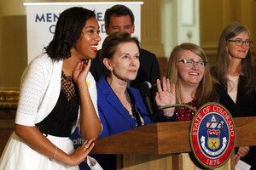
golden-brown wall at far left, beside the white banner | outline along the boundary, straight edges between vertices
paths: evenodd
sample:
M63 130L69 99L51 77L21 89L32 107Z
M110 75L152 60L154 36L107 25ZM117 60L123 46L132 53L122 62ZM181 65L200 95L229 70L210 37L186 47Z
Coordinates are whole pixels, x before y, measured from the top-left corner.
M26 15L21 5L0 3L0 89L18 88L26 66Z

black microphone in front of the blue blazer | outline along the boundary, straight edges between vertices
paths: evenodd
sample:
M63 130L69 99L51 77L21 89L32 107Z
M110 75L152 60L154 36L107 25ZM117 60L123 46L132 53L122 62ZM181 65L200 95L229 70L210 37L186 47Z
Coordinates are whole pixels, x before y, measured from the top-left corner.
M150 88L152 87L150 82L143 82L140 85L140 94L143 97L143 103L146 106L146 109L148 111L148 115L153 120L154 119L154 111L151 103L151 91Z

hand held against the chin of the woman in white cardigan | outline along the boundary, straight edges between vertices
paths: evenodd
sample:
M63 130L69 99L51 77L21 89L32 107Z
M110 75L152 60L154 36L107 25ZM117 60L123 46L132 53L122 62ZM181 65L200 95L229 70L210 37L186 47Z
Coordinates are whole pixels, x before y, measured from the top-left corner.
M88 72L90 71L90 63L91 59L84 59L79 62L79 65L73 71L72 77L73 81L77 84L77 86L84 85L86 83L86 77Z

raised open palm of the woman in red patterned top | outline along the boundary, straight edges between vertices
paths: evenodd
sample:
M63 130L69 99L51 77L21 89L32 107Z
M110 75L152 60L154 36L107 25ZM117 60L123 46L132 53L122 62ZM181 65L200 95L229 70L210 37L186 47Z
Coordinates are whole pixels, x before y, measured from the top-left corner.
M166 77L162 78L162 87L160 80L156 82L157 93L155 95L156 105L174 105L176 104L175 84L170 85L170 80ZM165 116L173 116L174 108L164 109L163 113Z

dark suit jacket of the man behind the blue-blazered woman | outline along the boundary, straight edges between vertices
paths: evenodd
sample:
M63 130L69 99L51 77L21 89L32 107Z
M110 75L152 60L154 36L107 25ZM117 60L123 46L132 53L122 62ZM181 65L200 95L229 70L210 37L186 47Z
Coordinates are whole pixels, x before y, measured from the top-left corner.
M91 60L90 66L90 72L96 82L98 82L102 75L104 75L99 55L100 51L97 52L96 58ZM154 84L156 83L156 79L160 79L160 69L155 54L141 48L139 60L140 68L137 72L137 77L135 80L130 82L130 86L137 89L139 89L140 84L143 82L150 82L151 84Z

